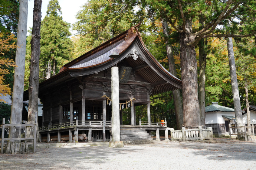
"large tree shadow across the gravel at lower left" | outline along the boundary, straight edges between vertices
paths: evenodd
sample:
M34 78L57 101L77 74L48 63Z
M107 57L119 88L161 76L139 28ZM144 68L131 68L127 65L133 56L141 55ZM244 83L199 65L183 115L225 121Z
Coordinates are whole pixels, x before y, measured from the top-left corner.
M143 150L143 149L142 149ZM74 147L74 148L47 148L40 149L35 154L2 154L0 160L6 160L9 164L0 164L0 169L88 169L88 163L98 164L104 169L104 164L111 164L113 160L109 155L130 154L140 152L130 147ZM13 160L12 160L13 158ZM114 160L116 161L116 160Z

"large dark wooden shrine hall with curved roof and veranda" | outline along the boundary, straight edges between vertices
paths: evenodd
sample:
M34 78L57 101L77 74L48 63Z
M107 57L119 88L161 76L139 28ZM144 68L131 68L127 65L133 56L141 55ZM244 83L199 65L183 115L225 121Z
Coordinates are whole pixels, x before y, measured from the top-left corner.
M151 130L167 129L166 121L151 122L150 95L180 89L181 80L147 50L137 30L139 25L63 65L58 74L39 84L43 103L42 125L39 125L42 139L47 136L49 142L51 135L57 135L60 142L60 135L64 134L71 142L75 133L85 133L88 142L111 140L113 66L119 69L121 140L152 140ZM27 99L25 91L24 100ZM131 107L131 125L122 125L122 108L127 105ZM135 107L139 105L147 105L147 122L135 121Z

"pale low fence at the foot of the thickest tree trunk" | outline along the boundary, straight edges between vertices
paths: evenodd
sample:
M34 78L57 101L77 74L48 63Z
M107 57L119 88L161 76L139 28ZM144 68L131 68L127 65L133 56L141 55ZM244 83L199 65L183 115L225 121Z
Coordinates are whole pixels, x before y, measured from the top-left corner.
M202 129L202 126L198 126L198 129L186 129L174 130L171 128L171 140L213 140L213 129L211 127Z

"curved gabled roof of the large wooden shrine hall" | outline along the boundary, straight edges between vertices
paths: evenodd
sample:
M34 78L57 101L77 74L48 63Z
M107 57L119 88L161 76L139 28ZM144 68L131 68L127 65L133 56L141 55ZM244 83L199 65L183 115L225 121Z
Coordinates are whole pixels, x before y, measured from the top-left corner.
M63 65L58 74L39 84L40 91L77 76L89 76L108 69L113 66L112 61L114 64L122 61L132 67L136 74L141 75L148 82L142 86L151 86L152 94L181 89L181 80L168 72L144 46L140 32L137 30L139 25L140 23ZM131 57L134 49L138 54L137 59ZM109 55L113 52L121 57L111 61ZM26 93L25 91L24 96L27 95Z

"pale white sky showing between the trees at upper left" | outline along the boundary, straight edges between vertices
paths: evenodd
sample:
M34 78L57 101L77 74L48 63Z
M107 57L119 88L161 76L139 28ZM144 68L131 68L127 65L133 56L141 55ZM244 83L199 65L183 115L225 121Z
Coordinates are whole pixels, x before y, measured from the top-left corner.
M43 0L42 2L42 20L46 16L47 5L50 0ZM59 5L62 11L62 18L64 21L73 24L76 22L75 15L81 10L80 8L83 4L86 3L87 0L58 0ZM28 14L27 14L27 30L29 27L33 27L33 8L34 8L34 0L29 0L28 6ZM69 30L72 34L75 34L75 31L72 31L71 28ZM27 32L27 35L29 33Z

